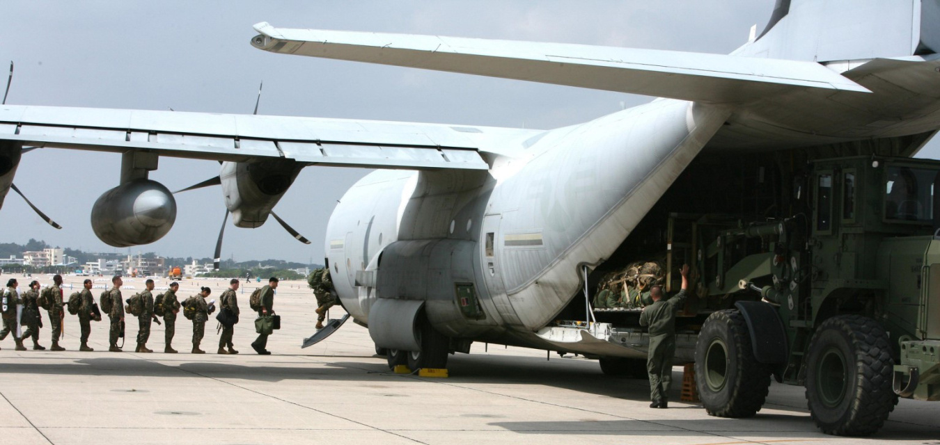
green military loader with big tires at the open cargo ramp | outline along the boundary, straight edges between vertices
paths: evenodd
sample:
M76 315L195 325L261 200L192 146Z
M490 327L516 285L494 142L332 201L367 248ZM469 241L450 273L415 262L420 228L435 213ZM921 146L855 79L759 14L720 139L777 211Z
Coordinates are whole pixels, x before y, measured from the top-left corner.
M714 176L727 165L702 163L687 175ZM865 436L899 397L940 400L940 161L857 156L803 165L791 177L753 179L774 189L765 198L743 180L729 185L745 192L727 199L758 195L736 208L760 211L656 216L654 208L592 284L604 288L619 276L611 268L646 255L663 265L666 290L675 291L676 271L689 263L692 298L677 321L676 362L695 362L710 414L755 415L773 377L806 387L823 432ZM706 199L707 191L687 192L693 188L682 183L673 189L662 207L692 207L682 196ZM718 193L699 206L718 207L725 198ZM655 247L662 241L665 253ZM641 299L627 298L626 288L623 295L629 301L619 308L597 309L595 300L594 314L610 327L611 343L643 350L635 323L642 302L634 304ZM600 356L602 370L644 374L636 356L624 357Z

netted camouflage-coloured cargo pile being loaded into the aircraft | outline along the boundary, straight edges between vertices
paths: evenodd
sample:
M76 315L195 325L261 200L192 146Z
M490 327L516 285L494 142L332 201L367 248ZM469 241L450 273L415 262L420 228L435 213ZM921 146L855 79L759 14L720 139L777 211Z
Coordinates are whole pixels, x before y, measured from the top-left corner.
M657 261L639 261L601 278L594 294L594 309L640 309L652 304L650 289L663 284L666 269Z

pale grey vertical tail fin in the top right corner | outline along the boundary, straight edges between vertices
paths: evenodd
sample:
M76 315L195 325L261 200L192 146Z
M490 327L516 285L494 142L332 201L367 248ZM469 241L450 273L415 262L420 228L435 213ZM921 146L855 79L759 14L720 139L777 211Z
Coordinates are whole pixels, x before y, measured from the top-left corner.
M776 0L735 55L832 62L940 53L940 0Z

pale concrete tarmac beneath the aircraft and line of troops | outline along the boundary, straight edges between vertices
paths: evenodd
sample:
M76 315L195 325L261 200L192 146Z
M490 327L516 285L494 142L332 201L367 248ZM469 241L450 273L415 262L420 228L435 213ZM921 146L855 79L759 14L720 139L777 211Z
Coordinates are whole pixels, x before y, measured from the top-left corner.
M77 290L85 277L66 278ZM20 279L21 290L29 281ZM125 299L143 289L143 279L125 284L135 287L123 290ZM180 299L199 285L211 286L210 299L217 299L227 280L180 284ZM122 353L105 352L104 322L92 326L95 352L78 352L74 315L66 315L65 352L16 352L8 337L0 342L0 443L940 445L940 403L901 400L876 436L831 437L810 420L803 388L776 383L756 417L710 417L698 405L678 402L680 367L669 409L649 407L646 381L603 376L597 361L555 353L546 361L545 351L502 345L474 344L470 355L451 356L448 378L394 375L374 355L368 330L352 322L301 349L316 320L316 300L302 282L281 283L274 310L283 328L268 343L274 355L258 356L249 346L256 334L248 309L258 285L243 285L242 322L235 328L241 354L234 356L214 353L214 319L202 343L207 354L189 354L192 324L181 316L176 355L133 353L136 320L128 322ZM70 293L67 287L66 298ZM338 318L342 310L330 315ZM40 345L48 347L45 315L44 321ZM154 325L149 347L162 351L163 338L163 327Z

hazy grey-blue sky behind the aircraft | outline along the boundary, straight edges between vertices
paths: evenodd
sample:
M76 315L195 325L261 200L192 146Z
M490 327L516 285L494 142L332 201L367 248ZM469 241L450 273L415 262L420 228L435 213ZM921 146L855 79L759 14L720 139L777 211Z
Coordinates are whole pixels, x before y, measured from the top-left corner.
M619 1L4 1L0 71L16 63L8 103L363 118L549 129L650 98L419 69L269 54L252 48L252 24L473 38L506 38L727 54L770 17L773 0ZM5 77L5 76L4 76ZM934 141L921 156L940 157ZM91 252L211 256L221 189L177 195L163 239L132 249L102 243L91 207L118 185L120 156L57 149L24 155L15 183L65 228L55 230L10 192L0 242L45 239ZM275 211L313 244L273 220L227 227L223 256L322 262L326 223L368 170L309 167ZM170 190L218 175L218 163L161 158L150 178ZM15 223L13 223L15 222Z

